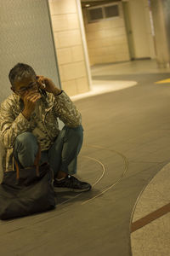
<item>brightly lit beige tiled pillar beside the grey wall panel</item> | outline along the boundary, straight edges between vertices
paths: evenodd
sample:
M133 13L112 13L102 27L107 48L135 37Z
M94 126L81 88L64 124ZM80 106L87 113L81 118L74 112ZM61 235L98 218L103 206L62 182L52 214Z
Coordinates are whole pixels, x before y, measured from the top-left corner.
M69 96L89 90L76 0L49 0L62 89Z

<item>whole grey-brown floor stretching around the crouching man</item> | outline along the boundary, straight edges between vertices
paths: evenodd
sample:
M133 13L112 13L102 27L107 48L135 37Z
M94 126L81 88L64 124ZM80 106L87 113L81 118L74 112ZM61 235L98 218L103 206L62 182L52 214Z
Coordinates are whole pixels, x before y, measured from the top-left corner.
M94 85L108 88L72 100L84 126L77 176L93 189L59 193L52 212L1 221L1 255L170 254L168 208L132 230L169 203L170 84L156 84L169 71L156 61L92 67Z

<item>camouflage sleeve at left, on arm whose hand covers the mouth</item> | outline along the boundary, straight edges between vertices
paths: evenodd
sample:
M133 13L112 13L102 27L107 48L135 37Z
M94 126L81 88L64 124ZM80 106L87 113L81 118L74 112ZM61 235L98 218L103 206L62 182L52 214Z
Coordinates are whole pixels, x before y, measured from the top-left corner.
M29 121L22 113L15 118L10 104L2 103L0 109L0 132L5 148L13 148L16 137L30 128Z

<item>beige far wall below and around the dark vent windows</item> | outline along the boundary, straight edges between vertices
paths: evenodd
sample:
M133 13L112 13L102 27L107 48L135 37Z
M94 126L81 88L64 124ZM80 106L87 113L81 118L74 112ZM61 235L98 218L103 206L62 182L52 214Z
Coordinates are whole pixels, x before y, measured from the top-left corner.
M129 61L127 34L120 5L119 18L88 23L86 9L82 10L90 64Z

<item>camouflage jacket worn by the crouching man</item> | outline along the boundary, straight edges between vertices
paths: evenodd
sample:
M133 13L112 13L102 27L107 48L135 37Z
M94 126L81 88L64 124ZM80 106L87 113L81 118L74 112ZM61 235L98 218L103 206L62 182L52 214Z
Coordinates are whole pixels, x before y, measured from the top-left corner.
M40 143L43 151L50 148L59 134L57 118L70 127L81 125L81 113L77 111L64 91L59 96L54 96L52 93L42 95L30 120L27 120L21 113L23 108L23 101L15 94L8 96L1 104L0 132L3 144L3 172L14 170L14 142L20 133L31 131L37 137L37 142Z

